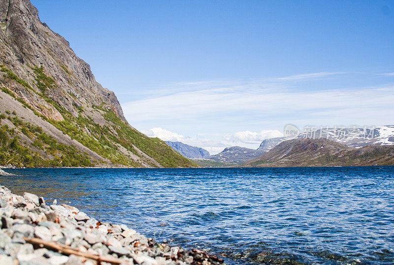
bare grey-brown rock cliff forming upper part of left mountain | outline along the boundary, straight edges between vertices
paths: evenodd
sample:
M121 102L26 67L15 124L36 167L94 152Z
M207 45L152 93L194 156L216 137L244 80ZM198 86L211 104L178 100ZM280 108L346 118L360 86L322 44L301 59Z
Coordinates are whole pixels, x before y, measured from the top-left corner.
M81 107L105 103L126 121L115 94L96 82L89 64L75 55L68 41L41 23L29 0L0 0L0 6L0 63L34 91L1 76L2 84L47 118L64 120L56 108L38 95L41 92L75 117ZM55 80L49 88L36 86L34 69L41 67L45 75Z

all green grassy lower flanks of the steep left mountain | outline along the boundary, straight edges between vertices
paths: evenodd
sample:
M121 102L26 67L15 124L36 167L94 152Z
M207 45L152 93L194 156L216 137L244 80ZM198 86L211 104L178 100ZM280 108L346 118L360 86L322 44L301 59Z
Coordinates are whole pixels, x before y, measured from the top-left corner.
M75 139L101 157L108 159L111 164L128 167L197 167L196 164L166 145L164 141L149 138L132 128L119 118L108 104L79 107L78 116L73 116L46 93L51 89L56 89L56 81L47 76L42 67L32 69L35 74L35 85L40 92L5 66L1 66L5 78L43 98L62 115L64 120L47 118L8 88L2 87L1 90L17 99L26 109L31 109L34 115L70 136L71 139ZM104 160L92 159L76 147L58 143L53 137L43 133L41 127L24 122L17 117L15 112L13 113L12 110L5 110L0 116L2 123L7 120L7 123L11 122L13 125L12 128L9 128L7 124L1 126L1 165L94 166L106 163ZM95 122L95 119L99 119L99 122ZM21 141L21 134L25 136L23 138L30 141Z

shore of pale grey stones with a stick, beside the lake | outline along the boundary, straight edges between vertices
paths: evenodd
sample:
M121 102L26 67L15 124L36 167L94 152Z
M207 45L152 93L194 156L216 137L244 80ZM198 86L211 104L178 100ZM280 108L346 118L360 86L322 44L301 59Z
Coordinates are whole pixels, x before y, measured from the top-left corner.
M1 265L218 265L197 249L156 242L126 225L100 222L73 206L0 186Z

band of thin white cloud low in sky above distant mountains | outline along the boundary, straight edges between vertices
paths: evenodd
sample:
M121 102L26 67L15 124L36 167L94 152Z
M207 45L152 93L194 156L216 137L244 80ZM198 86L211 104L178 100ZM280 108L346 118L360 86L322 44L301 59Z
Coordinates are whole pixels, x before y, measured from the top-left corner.
M300 127L392 123L388 117L394 115L394 86L327 85L328 77L336 77L335 84L346 75L319 72L260 81L172 83L167 92L151 93L122 107L129 122L148 136L211 151L234 145L256 148L264 138L280 137L288 122Z

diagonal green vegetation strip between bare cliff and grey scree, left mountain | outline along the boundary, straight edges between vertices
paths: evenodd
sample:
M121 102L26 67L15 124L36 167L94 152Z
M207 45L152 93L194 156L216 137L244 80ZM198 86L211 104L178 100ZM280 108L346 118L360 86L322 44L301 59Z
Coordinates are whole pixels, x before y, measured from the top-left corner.
M33 90L37 95L44 98L46 102L54 106L62 114L65 119L64 121L55 121L44 117L32 109L32 107L23 101L23 99L16 97L16 95L7 88L1 89L14 98L17 98L17 100L26 108L32 109L35 115L50 122L71 138L95 151L102 157L109 159L112 163L132 167L140 167L142 166L142 163L145 163L156 167L156 165L148 158L140 157L135 161L129 155L120 150L120 147L124 147L131 153L139 156L137 150L133 147L135 146L145 154L155 159L163 167L197 167L197 164L173 151L173 149L167 146L164 141L158 138L149 138L131 128L130 125L121 120L115 113L108 110L105 104L102 104L101 106L93 106L93 108L103 114L103 117L110 123L108 125L101 126L94 122L92 118L83 114L83 108L81 107L78 108L80 113L79 116L72 116L66 111L66 109L61 107L56 101L45 94L48 90L57 87L55 80L52 77L48 77L44 73L44 69L42 67L35 67L32 69L35 73L35 81L37 82L36 86L41 92L34 91L27 82L18 78L4 66L1 66L1 71L6 73L6 75L4 75L5 77L15 80L25 88Z

